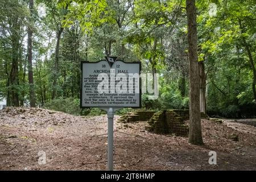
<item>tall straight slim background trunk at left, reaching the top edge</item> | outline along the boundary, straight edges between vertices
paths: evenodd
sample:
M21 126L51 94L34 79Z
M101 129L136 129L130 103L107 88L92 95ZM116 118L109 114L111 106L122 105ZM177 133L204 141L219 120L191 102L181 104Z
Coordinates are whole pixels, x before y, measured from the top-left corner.
M34 9L34 0L30 0L30 18L31 22ZM30 107L36 106L35 90L34 90L34 76L33 76L33 67L32 67L32 26L27 28L27 61L28 61L28 83L30 84Z

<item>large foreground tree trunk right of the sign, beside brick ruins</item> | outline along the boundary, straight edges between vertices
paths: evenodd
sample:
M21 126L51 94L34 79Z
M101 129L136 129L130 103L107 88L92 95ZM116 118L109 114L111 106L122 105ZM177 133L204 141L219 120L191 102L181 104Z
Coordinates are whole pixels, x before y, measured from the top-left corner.
M197 25L195 0L186 1L189 59L189 139L191 144L203 144L200 117L200 78L197 61Z

